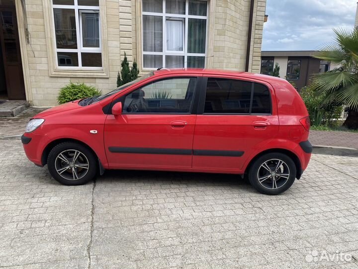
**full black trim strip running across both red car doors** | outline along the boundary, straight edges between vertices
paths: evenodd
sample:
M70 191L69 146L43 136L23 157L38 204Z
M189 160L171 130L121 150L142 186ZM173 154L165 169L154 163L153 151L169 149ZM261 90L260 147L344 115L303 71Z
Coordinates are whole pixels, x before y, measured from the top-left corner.
M169 155L194 155L194 156L227 156L241 157L244 151L235 150L211 150L211 149L181 149L181 148L153 148L153 147L108 147L113 153L137 153L137 154L169 154Z

